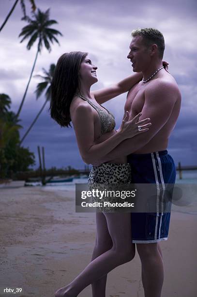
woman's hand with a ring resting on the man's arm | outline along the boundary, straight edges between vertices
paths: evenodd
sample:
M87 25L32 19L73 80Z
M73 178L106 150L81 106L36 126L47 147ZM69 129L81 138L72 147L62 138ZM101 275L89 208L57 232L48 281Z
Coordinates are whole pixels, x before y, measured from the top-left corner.
M138 121L141 115L142 113L139 113L132 120L129 121L129 112L126 111L126 113L124 113L121 127L117 131L121 134L123 139L132 138L137 134L144 133L149 130L148 127L152 125L150 122L150 118L145 118L141 121Z

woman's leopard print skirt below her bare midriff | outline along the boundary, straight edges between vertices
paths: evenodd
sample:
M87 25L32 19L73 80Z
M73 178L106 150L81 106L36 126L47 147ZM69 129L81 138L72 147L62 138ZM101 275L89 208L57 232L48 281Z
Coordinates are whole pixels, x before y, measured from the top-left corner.
M92 166L88 178L88 185L90 190L108 190L108 191L121 191L125 184L131 183L131 167L129 163L103 163L100 166ZM98 201L98 198L92 197L92 202ZM120 201L117 197L103 198L102 202L110 201L116 203ZM100 200L101 202L101 200ZM122 201L121 201L122 202ZM99 212L114 212L117 207L99 206L96 208Z

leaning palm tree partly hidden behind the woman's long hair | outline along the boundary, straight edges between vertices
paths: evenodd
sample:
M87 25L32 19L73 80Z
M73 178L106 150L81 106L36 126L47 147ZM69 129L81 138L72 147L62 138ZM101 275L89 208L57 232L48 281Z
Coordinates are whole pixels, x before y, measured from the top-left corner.
M43 75L35 75L35 77L40 77L40 78L44 79L44 82L39 82L37 84L37 87L36 87L36 90L35 90L35 94L36 94L36 99L38 99L43 94L43 92L46 89L46 92L45 92L45 98L46 98L46 100L45 100L45 103L43 104L43 106L41 107L39 113L36 115L36 117L34 118L34 120L32 121L32 123L30 124L30 127L28 128L28 130L23 135L23 137L22 137L22 139L20 141L20 145L23 142L23 140L26 138L26 136L29 134L31 128L33 127L33 125L37 121L39 115L44 110L46 103L51 98L51 82L52 82L53 75L55 73L55 64L51 64L50 65L49 71L46 71L45 68L43 68L43 72L45 74L44 76Z

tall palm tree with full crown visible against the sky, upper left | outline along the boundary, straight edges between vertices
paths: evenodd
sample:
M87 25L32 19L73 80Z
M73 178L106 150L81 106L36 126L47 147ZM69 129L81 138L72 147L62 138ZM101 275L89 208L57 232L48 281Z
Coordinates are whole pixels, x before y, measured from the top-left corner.
M38 46L37 46L37 52L33 63L33 67L30 73L30 79L28 81L25 93L23 95L22 101L20 103L19 109L16 114L16 117L19 116L21 108L23 106L23 103L27 94L27 90L30 84L31 76L38 57L38 53L41 52L41 49L43 48L43 43L45 45L45 48L50 52L51 51L50 42L53 43L53 41L55 41L56 43L59 44L59 41L55 37L55 35L59 34L62 36L61 32L59 32L58 30L49 28L51 25L58 23L54 19L49 19L49 11L50 9L47 9L45 12L42 12L40 11L40 9L38 9L37 13L33 13L32 19L29 16L26 16L24 19L28 21L29 25L23 27L21 33L19 34L19 37L23 36L20 42L23 42L25 39L30 37L30 40L27 44L28 50L31 49L32 45L36 40L38 40Z

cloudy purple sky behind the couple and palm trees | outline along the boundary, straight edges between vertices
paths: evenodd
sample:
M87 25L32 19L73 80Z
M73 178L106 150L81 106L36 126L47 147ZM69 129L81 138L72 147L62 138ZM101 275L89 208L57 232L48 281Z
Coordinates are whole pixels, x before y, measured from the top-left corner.
M35 0L37 7L50 8L50 18L59 24L53 27L63 34L61 46L54 45L48 53L43 49L39 55L34 75L49 68L58 57L67 51L81 50L91 54L98 66L99 82L92 89L118 82L132 72L126 56L129 50L131 31L138 27L155 27L165 36L164 59L170 64L170 73L175 77L182 93L182 109L178 123L172 132L168 150L175 163L197 165L197 2L196 0ZM12 7L14 0L0 0L0 23ZM30 4L26 0L27 14ZM27 42L19 43L22 27L22 11L19 3L13 15L0 33L0 93L12 99L12 109L17 110L24 93L36 45L26 49ZM21 112L21 135L44 103L45 97L35 99L34 90L40 82L32 78L26 101ZM126 95L107 102L105 106L116 117L117 128L123 114ZM47 167L72 165L82 168L73 129L60 128L50 119L47 108L38 119L24 146L35 152L37 145L45 147Z

